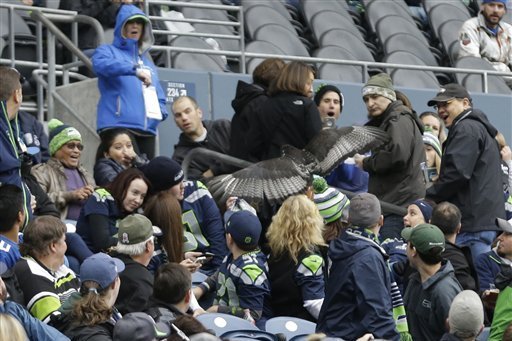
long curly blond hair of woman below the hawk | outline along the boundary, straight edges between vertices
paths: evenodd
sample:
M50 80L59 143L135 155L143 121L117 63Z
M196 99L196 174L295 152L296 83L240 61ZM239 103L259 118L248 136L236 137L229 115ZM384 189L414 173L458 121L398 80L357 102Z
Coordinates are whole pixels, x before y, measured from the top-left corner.
M304 194L283 202L266 233L272 256L288 254L295 263L301 251L313 252L326 245L322 237L324 222L315 203Z

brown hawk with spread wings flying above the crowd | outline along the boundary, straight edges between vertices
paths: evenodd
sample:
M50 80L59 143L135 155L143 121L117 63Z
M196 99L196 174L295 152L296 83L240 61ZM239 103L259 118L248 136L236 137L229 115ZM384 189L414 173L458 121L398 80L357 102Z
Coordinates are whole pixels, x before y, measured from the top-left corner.
M263 200L280 204L291 195L304 193L313 174L328 175L346 158L388 141L388 134L374 127L324 129L304 149L283 146L281 157L216 176L208 181L208 188L218 202L239 197L253 205Z

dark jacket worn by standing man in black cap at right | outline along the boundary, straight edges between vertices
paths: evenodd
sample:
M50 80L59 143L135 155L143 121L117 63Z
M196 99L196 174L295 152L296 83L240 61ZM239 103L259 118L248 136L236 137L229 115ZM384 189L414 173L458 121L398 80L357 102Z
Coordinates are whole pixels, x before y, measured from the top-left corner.
M459 114L443 144L439 179L427 191L435 202L449 201L462 213L462 232L495 231L505 218L497 130L480 110Z

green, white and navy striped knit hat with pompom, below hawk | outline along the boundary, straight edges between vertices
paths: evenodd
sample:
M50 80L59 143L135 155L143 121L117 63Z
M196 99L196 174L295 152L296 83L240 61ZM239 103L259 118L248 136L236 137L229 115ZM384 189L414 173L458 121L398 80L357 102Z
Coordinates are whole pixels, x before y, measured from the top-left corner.
M341 219L342 222L348 222L350 200L345 194L329 187L324 178L316 176L313 180L313 190L315 192L315 204L326 224L338 219Z

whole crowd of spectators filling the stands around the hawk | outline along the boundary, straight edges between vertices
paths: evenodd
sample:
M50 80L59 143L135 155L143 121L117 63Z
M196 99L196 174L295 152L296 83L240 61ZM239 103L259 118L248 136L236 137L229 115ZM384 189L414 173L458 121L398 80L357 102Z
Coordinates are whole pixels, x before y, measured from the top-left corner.
M494 3L502 2L483 8ZM239 83L233 124L203 121L194 98L177 99L182 134L173 158L156 156L167 111L147 58L151 25L128 4L115 25L114 43L93 55L102 94L96 182L80 164L80 132L63 122L49 122L48 146L44 132L32 133L40 154L29 153L19 73L0 67L2 326L21 339L173 340L172 330L206 331L194 317L224 313L262 329L294 316L346 340L474 340L484 326L499 340L510 332L510 155L464 87L443 86L428 102L435 112L418 116L389 75L372 76L361 89L367 126L389 141L334 176L311 178L303 193L273 205L269 220L243 198L215 201L208 179L232 171L217 159L192 164L184 179L184 155L204 147L253 162L276 158L283 145L303 148L336 129L355 99L333 85L315 93L311 67L272 58L253 84ZM358 193L349 199L337 184ZM53 206L38 211L46 202ZM192 288L197 273L205 279Z

